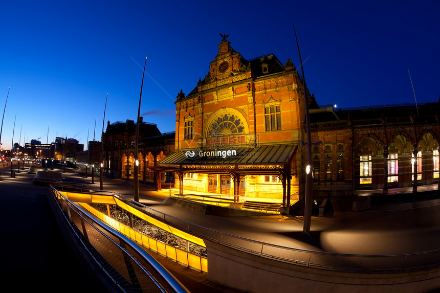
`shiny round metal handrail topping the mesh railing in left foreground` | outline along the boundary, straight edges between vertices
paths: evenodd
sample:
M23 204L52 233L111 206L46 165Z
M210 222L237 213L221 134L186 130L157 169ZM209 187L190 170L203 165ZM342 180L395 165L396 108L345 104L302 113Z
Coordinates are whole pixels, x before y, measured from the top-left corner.
M116 238L118 238L119 240L123 241L123 243L125 245L127 245L128 247L130 247L130 249L134 250L137 254L139 254L150 266L151 268L154 269L154 271L162 278L162 280L170 287L172 288L172 290L174 290L175 292L189 292L177 279L175 279L168 271L166 268L164 268L156 259L152 258L148 253L146 253L144 250L142 250L139 245L137 245L135 242L133 242L132 240L130 240L128 237L126 237L125 235L119 233L118 231L109 228L107 225L103 224L102 222L100 222L99 220L95 219L94 216L92 216L89 212L87 212L86 210L84 210L83 208L77 206L74 204L74 202L72 202L71 200L69 200L68 198L66 198L64 195L62 195L60 192L58 192L55 188L52 188L53 194L57 195L58 198L60 200L63 200L64 202L66 202L66 204L68 204L70 207L72 207L72 209L69 210L69 213L73 210L75 213L77 213L84 221L88 222L90 224L91 227L94 227L96 229L97 232L99 232L102 236L104 236L106 239L108 239L109 241L113 242L115 245L117 245L119 247L120 250L125 251L126 254L131 257L131 255L126 251L126 249L124 249L120 244L116 243L114 240L112 240L111 238L109 238L107 235L105 235L105 233L102 233L101 229L104 230L106 233L109 233L113 236L115 236ZM55 196L54 196L55 197ZM60 207L61 208L61 207ZM79 212L78 212L79 211ZM89 220L87 220L84 215L93 220L93 223L90 222ZM99 229L97 229L95 227L99 226ZM150 279L157 285L157 287L161 290L163 290L163 287L158 283L158 281L152 277L152 275L147 271L146 268L144 268L138 260L136 260L135 258L131 257L131 259L136 262L139 267L141 267L143 269L143 271L145 272L145 274L147 276L150 277ZM165 291L164 291L165 292Z

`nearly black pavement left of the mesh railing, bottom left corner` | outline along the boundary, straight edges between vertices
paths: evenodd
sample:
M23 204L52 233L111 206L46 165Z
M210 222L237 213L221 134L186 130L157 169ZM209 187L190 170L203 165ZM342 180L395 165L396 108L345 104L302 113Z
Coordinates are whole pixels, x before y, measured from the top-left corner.
M24 173L0 179L2 291L102 292L75 258L49 207L48 187Z

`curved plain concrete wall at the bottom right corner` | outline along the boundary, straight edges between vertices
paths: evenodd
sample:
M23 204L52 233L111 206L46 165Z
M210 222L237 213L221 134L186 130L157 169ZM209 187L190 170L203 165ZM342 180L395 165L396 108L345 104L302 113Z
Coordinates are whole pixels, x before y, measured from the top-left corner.
M440 268L423 272L365 274L284 263L205 240L208 279L252 293L427 292L440 286Z

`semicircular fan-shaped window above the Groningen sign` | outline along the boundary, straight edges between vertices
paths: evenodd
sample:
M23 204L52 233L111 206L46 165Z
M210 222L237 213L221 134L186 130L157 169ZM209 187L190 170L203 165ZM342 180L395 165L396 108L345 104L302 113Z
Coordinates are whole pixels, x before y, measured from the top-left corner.
M248 121L239 109L223 107L213 112L205 123L203 135L212 138L222 135L249 133Z

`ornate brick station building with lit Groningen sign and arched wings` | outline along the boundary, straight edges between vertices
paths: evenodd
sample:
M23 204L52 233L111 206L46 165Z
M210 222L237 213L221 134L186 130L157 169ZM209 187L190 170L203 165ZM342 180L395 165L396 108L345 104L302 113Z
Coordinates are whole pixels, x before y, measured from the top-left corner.
M155 182L157 189L173 183L181 194L208 192L283 206L301 201L307 118L293 62L274 54L246 59L223 37L208 65L188 95L183 90L177 95L172 146L168 139L151 151L140 143L140 179ZM305 92L314 196L351 196L362 189L386 194L408 186L416 191L438 183L438 102L337 109L319 106ZM133 147L121 146L115 162L112 168L121 176L133 176L128 173Z

